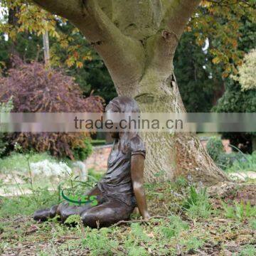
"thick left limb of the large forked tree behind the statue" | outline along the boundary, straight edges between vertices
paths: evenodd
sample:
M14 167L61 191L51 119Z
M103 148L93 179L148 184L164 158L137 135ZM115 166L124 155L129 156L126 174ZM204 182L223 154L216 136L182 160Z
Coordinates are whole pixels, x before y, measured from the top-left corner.
M100 8L97 0L32 0L51 13L68 18L80 29L110 71L117 92L136 89L144 69L142 44L125 36Z

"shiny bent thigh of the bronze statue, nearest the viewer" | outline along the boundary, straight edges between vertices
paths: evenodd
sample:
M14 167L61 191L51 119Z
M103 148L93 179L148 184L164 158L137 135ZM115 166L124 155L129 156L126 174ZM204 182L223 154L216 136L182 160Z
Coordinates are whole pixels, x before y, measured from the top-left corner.
M127 206L125 203L109 198L100 206L95 206L89 210L80 213L82 223L91 228L108 227L119 220L129 219L129 215L134 210L134 207Z

